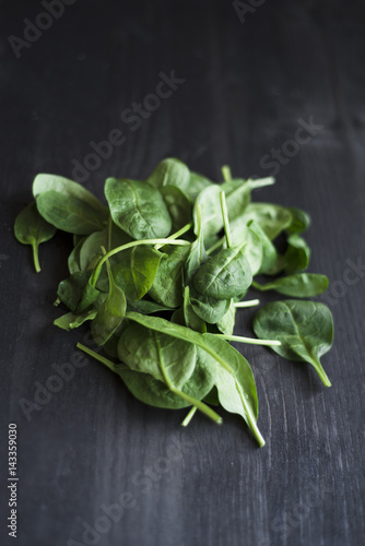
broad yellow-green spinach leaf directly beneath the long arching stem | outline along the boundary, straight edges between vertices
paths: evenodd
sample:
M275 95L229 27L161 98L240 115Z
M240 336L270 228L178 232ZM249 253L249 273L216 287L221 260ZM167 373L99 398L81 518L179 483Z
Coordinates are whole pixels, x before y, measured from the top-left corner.
M113 268L115 282L130 301L141 299L151 288L163 253L148 246L132 247Z

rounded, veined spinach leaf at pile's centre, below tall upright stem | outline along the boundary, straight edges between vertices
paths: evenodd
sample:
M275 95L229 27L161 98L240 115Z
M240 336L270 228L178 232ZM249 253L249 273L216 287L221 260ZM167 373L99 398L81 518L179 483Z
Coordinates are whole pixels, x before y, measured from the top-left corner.
M220 250L199 268L192 281L199 294L228 299L248 288L252 274L244 245Z

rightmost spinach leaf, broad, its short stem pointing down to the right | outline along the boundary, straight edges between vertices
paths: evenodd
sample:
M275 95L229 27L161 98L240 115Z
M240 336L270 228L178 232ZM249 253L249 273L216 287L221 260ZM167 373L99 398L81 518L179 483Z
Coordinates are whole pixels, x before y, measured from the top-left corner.
M331 385L320 364L333 341L333 321L327 306L295 299L273 301L256 313L254 330L260 339L280 341L280 346L271 347L275 353L311 364L323 384Z

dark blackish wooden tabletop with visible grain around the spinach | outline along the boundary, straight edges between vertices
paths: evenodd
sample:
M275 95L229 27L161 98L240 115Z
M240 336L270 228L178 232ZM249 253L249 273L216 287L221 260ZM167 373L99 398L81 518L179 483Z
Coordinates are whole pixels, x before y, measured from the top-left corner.
M258 3L242 23L229 1L79 0L16 59L8 37L23 37L23 20L44 8L1 2L1 545L364 544L365 272L346 271L349 260L365 263L365 7ZM121 112L172 71L185 82L132 131ZM332 282L320 298L335 322L322 359L332 388L307 365L240 347L257 379L263 449L224 412L222 427L197 415L182 429L186 412L142 405L92 360L27 419L20 401L35 400L86 332L52 327L70 237L40 248L38 275L14 240L33 177L71 177L72 159L113 129L126 142L84 182L101 197L107 176L145 177L165 156L214 179L223 164L268 176L262 157L293 152L286 141L310 118L321 130L282 156L276 186L258 198L313 218L310 270ZM252 334L251 314L239 314L237 333ZM19 430L17 542L5 527L9 423ZM116 521L99 519L116 503ZM83 537L85 522L98 534Z

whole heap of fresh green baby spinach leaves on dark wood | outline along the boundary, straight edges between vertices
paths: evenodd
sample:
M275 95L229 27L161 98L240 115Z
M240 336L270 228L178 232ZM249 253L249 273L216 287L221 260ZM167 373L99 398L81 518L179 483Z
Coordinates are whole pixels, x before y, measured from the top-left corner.
M308 298L326 290L328 278L305 272L308 215L251 201L252 190L274 180L222 171L215 183L167 158L144 181L108 178L106 205L76 182L42 174L14 230L32 246L37 272L38 245L57 229L73 235L70 274L57 290L57 305L68 312L55 324L72 330L90 321L107 356L79 348L119 375L136 397L188 407L182 425L197 410L221 423L215 410L222 405L263 446L254 373L229 342L268 345L307 361L329 387L319 358L332 344L332 317L313 300L270 302L256 313L257 339L249 339L233 334L235 314L259 304L246 298L250 287Z

